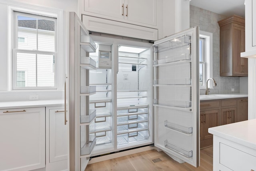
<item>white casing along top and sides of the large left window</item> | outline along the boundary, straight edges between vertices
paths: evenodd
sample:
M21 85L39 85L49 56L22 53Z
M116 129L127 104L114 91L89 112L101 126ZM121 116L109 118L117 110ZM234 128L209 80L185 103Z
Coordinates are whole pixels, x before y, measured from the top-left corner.
M57 77L56 77L56 84L57 90L64 89L64 84L59 84L64 82L64 59L63 59L63 10L57 8L50 8L44 6L36 6L34 4L27 4L23 2L17 2L12 0L0 0L0 3L8 5L8 91L13 90L13 79L12 79L12 49L13 49L13 13L14 11L18 12L25 12L43 16L49 16L57 18L57 27L58 30L56 37L57 37L57 47L56 52L59 58L55 59L57 62ZM29 90L29 89L27 89ZM37 89L40 90L40 89ZM46 89L44 89L46 90ZM55 89L56 90L56 89Z

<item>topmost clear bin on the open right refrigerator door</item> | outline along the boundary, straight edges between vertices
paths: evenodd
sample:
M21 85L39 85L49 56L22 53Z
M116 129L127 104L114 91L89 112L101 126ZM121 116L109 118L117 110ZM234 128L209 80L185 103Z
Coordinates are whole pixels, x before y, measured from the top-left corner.
M167 42L154 45L154 52L163 52L169 49L174 49L191 44L191 36L183 35L178 38L174 38Z

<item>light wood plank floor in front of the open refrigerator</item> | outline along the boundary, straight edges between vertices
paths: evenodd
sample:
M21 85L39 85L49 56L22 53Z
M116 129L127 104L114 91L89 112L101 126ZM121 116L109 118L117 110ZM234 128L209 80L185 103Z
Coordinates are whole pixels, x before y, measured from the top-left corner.
M200 167L178 163L163 151L149 150L90 164L85 171L212 171L212 147L200 150ZM162 161L154 163L152 159Z

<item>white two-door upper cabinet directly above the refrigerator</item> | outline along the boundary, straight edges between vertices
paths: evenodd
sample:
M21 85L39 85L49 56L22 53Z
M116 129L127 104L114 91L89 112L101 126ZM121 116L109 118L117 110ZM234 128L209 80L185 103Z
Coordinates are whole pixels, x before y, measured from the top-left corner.
M82 0L81 13L156 28L156 0Z

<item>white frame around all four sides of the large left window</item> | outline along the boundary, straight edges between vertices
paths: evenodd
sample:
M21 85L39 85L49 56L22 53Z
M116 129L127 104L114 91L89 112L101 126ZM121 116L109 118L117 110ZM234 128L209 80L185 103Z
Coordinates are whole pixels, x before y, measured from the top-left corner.
M54 88L45 88L45 87L28 87L28 88L18 88L14 89L14 81L13 81L13 23L14 23L14 11L17 12L23 12L23 13L29 13L29 14L36 14L40 16L46 16L46 17L52 17L56 18L56 55L58 54L59 58L56 58L55 55L55 68L54 68L54 74L56 73L56 78L54 80L55 87ZM64 52L63 52L63 10L57 9L57 8L50 8L50 7L44 7L44 6L37 6L34 4L26 4L23 2L12 2L8 3L8 91L28 91L28 90L38 90L38 91L48 91L48 90L63 90L64 89L64 81L66 80L65 71L64 71ZM18 40L17 40L18 41ZM60 84L62 83L63 84ZM15 84L16 85L16 84Z

